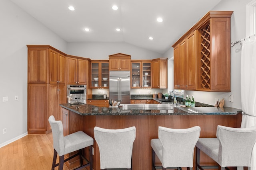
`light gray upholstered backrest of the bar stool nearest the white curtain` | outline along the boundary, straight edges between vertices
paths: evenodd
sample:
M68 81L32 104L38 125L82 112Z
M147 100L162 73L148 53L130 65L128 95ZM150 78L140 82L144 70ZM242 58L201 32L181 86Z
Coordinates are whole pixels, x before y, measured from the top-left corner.
M218 125L220 166L251 166L252 149L256 142L256 126L233 128Z

